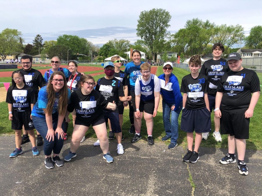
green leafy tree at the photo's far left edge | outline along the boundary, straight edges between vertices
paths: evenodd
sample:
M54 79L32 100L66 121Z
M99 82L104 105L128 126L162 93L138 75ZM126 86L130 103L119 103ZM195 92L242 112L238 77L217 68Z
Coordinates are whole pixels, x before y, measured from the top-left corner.
M0 33L0 57L5 60L8 54L22 52L22 33L17 29L6 28ZM20 39L21 38L21 39Z

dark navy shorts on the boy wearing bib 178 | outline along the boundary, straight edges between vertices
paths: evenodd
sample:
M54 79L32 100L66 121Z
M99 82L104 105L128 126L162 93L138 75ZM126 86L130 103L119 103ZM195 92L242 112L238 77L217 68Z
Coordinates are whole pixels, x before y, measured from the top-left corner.
M208 109L183 109L181 116L181 130L192 133L206 133L211 131L211 117Z

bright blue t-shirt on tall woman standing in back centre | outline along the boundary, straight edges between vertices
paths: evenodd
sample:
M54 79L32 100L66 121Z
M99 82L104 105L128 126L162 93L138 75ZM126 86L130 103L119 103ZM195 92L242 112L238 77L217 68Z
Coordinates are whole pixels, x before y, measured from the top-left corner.
M143 63L144 62L141 61L140 65ZM134 91L137 78L139 75L141 75L140 65L135 65L134 62L132 61L126 64L125 66L125 73L128 75L129 78L128 90L130 91Z

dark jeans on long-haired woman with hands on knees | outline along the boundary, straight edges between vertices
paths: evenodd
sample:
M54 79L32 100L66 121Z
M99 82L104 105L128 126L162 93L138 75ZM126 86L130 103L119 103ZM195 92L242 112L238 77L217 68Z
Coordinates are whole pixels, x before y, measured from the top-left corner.
M45 138L47 135L47 124L46 124L46 119L45 118L39 118L36 116L32 116L33 118L33 124L36 128L36 130L41 134L41 136L44 139L44 153L46 156L49 156L52 154L52 151L54 154L59 154L61 152L61 149L63 148L63 144L64 144L64 140L63 138L58 139L58 134L56 134L56 136L54 137L54 141L47 141L47 139ZM53 119L53 129L54 131L56 130L57 127L57 121L58 121L58 115L57 113L52 115L52 119Z

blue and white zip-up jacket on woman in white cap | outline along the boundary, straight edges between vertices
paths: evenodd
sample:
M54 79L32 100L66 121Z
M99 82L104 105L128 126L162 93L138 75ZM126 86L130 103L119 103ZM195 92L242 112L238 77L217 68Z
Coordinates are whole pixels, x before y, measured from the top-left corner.
M164 101L168 104L175 103L174 111L177 111L183 98L176 76L171 73L167 85L165 81L165 74L158 76L158 78L160 82L160 93L162 94Z

